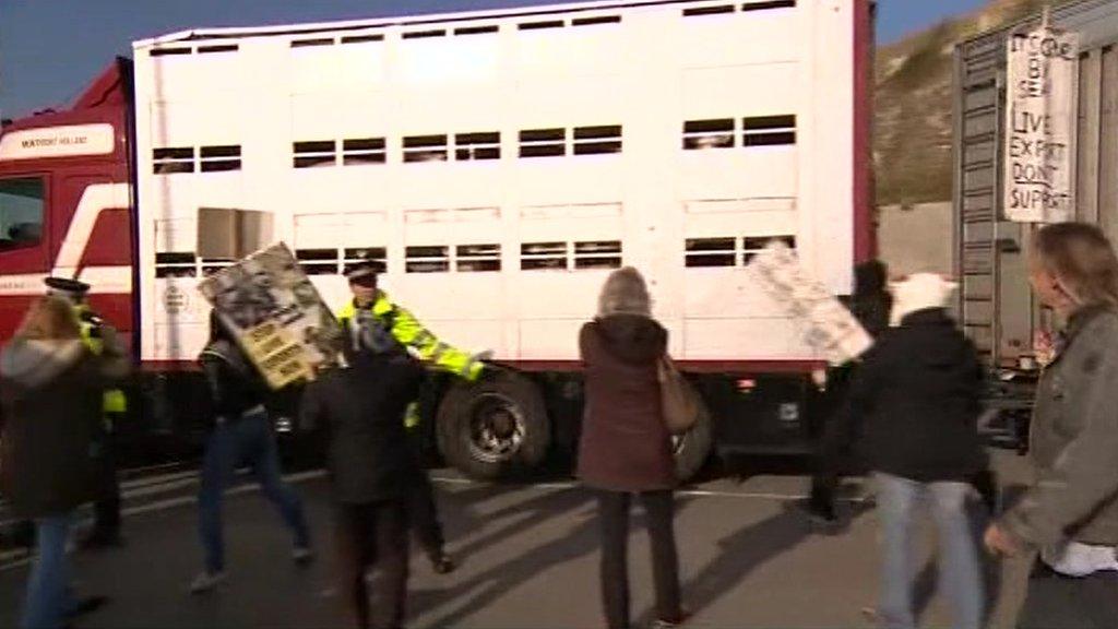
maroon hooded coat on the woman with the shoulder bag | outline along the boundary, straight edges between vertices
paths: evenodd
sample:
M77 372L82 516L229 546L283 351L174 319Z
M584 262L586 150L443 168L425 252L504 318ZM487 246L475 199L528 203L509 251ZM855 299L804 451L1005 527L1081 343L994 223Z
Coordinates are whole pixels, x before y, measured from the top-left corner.
M579 332L586 409L578 476L589 487L651 491L675 485L657 362L667 331L635 314L595 319Z

